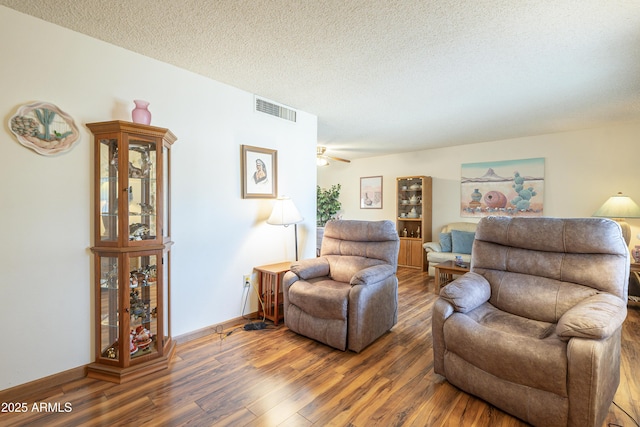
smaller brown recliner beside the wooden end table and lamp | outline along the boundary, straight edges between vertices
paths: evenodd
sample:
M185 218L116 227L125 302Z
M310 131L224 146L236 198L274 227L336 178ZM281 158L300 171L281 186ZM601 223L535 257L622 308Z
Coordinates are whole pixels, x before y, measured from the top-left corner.
M330 221L320 257L283 278L284 320L292 331L359 352L398 320L398 249L391 221Z

